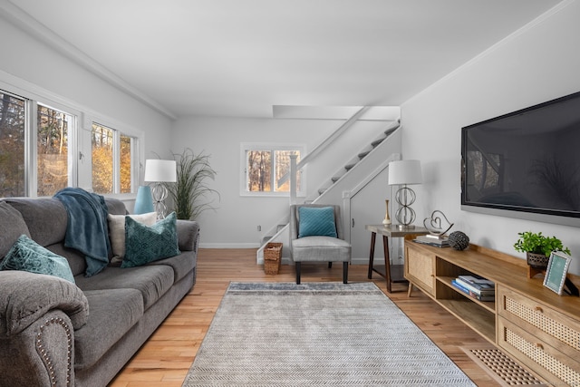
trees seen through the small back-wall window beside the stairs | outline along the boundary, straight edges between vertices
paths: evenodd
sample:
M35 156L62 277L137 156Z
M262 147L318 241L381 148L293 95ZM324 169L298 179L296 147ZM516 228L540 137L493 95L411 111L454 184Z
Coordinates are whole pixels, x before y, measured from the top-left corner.
M277 187L277 181L290 172L290 155L298 155L300 150L247 150L247 191L249 192L288 192L290 179ZM297 179L297 189L300 190L300 174Z

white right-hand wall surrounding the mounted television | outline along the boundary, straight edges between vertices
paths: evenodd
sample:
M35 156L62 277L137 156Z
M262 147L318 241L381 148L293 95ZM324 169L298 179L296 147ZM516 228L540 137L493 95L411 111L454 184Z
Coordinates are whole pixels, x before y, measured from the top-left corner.
M460 209L460 128L580 91L580 2L508 37L401 105L403 158L422 161L418 218L442 210L473 243L525 258L513 244L520 231L555 235L580 274L580 229ZM580 147L580 144L577 144Z

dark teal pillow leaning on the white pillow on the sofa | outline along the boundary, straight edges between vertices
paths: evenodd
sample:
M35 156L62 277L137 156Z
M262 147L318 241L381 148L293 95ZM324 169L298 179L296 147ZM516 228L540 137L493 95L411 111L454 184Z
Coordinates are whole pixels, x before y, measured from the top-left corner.
M121 267L142 266L179 253L175 212L152 226L125 218L125 257Z

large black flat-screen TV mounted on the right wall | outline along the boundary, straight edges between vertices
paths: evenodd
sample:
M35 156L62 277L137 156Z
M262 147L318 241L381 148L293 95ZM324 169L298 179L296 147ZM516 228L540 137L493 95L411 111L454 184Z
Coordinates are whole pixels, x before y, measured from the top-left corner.
M580 227L580 92L461 129L461 209Z

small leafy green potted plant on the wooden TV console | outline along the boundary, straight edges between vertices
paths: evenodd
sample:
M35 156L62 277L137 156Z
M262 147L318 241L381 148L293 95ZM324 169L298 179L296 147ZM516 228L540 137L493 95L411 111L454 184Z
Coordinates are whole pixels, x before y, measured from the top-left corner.
M525 231L517 233L519 238L514 244L516 251L526 253L527 265L545 269L552 251L562 251L570 255L570 249L562 245L557 237L546 237L541 232Z

